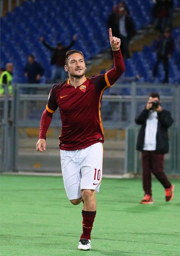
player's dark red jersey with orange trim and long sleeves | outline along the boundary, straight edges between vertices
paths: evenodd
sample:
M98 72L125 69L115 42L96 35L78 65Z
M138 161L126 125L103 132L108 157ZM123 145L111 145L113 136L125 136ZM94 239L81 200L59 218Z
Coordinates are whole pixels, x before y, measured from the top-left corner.
M59 108L62 121L62 134L59 136L60 149L77 150L97 142L104 142L101 98L104 90L111 87L124 72L120 51L116 52L116 58L119 59L120 65L116 64L105 74L86 78L85 82L77 88L71 86L70 80L53 86L41 118L39 138L46 139L51 115Z

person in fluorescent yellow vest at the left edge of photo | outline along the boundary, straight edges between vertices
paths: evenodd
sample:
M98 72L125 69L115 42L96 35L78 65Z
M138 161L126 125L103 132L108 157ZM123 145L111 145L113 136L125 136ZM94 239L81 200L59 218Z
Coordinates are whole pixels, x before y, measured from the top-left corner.
M12 81L13 81L13 63L7 63L5 70L0 76L0 95L4 94L4 85L8 86L8 93L11 95L13 93Z

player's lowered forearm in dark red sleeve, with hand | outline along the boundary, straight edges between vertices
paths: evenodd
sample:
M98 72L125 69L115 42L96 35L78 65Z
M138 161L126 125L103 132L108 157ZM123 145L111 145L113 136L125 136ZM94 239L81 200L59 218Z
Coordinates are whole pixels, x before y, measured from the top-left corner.
M37 151L43 152L46 150L46 133L52 121L52 116L53 114L47 110L44 110L41 116L40 134L39 134L38 142L36 143Z

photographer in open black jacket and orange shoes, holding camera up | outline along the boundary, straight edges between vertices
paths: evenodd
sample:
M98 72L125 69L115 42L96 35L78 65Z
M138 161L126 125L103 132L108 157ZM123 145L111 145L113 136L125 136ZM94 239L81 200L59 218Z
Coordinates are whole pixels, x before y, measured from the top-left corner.
M136 149L142 152L142 182L145 197L141 204L153 204L151 172L163 185L166 201L173 198L174 186L164 173L164 154L169 151L168 128L173 119L170 112L163 110L158 93L151 93L146 108L136 116L135 122L141 125Z

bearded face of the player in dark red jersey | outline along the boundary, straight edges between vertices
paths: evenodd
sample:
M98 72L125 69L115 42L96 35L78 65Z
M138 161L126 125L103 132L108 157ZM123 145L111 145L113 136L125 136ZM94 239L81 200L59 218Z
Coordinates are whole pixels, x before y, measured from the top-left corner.
M86 65L83 56L79 53L71 54L68 58L65 70L69 72L70 76L80 78L85 75Z

